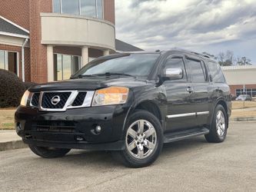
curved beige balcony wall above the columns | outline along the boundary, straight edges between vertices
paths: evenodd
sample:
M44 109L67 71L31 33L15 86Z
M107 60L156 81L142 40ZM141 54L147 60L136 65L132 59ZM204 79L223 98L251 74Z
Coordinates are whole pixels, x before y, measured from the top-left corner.
M115 25L78 15L41 13L42 44L115 50Z

